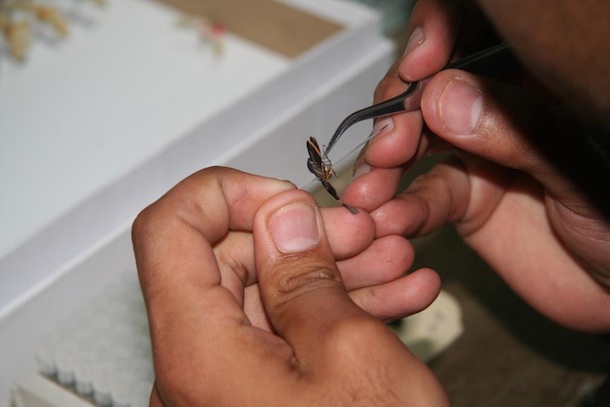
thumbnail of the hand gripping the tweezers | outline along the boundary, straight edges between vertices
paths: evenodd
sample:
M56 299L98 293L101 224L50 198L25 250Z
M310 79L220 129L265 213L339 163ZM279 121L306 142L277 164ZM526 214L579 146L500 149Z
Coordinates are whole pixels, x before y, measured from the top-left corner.
M466 81L453 79L441 94L439 112L445 127L458 134L471 134L483 110L483 94Z

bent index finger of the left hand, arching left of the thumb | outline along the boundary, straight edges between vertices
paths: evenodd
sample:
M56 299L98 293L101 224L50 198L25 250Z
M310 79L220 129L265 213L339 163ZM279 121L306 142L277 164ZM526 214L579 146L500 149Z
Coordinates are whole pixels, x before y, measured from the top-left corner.
M132 235L144 294L154 293L150 307L167 302L181 308L183 301L198 297L198 290L219 285L211 246L229 229L252 229L258 206L290 188L286 182L212 168L185 179L142 211ZM185 284L193 282L198 284Z

